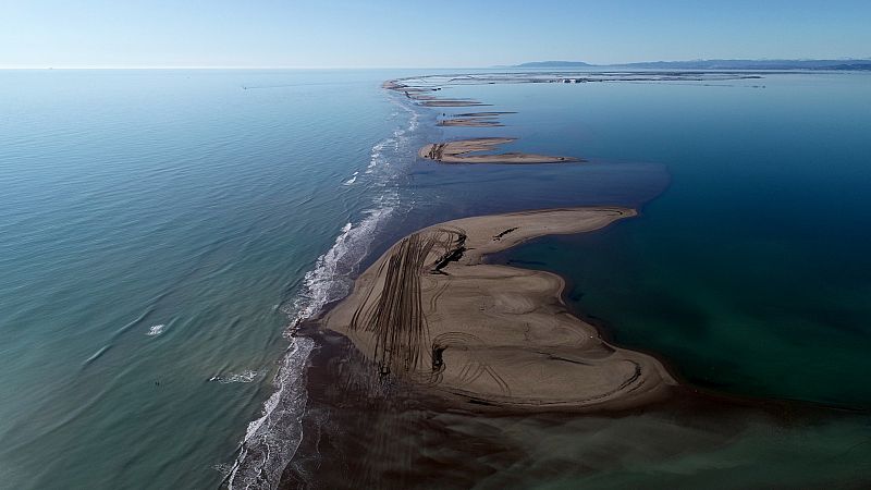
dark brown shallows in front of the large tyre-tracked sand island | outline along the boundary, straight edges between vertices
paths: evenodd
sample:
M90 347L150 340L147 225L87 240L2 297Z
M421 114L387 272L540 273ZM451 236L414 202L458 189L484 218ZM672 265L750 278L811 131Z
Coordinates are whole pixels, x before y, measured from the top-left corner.
M868 431L849 417L683 385L643 409L584 416L461 409L378 376L343 335L307 334L319 347L303 441L280 489L867 487Z

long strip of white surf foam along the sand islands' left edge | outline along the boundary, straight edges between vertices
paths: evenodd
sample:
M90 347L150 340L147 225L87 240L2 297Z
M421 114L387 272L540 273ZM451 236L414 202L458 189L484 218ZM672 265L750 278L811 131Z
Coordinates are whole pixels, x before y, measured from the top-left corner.
M275 488L302 442L302 419L307 401L305 373L315 342L293 336L293 333L299 322L347 295L353 285L351 278L369 253L376 231L398 208L395 162L407 150L408 137L405 135L417 128L418 114L401 102L394 100L394 103L407 111L410 118L406 127L395 130L391 137L372 147L365 171L367 180L373 180L371 207L363 211L363 218L356 224L347 222L342 226L330 249L318 257L315 267L306 273L299 293L283 308L290 319L285 336L291 346L275 375L275 392L263 404L262 416L248 425L228 477L230 489ZM357 176L358 172L355 172L345 185L356 182Z

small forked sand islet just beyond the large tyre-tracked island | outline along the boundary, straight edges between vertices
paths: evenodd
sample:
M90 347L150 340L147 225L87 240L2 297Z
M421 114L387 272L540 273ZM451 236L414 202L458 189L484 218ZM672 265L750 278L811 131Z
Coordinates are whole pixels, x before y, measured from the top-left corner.
M474 138L462 139L459 142L433 143L426 145L418 150L420 158L440 161L442 163L508 163L508 164L530 164L530 163L564 163L581 161L574 157L559 157L551 155L536 154L493 154L493 155L468 155L474 151L491 151L499 145L514 142L516 138Z

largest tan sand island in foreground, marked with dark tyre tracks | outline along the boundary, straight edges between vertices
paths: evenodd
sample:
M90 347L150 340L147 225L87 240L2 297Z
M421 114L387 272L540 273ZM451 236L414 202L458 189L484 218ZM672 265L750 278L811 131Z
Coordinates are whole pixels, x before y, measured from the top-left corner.
M321 319L382 376L489 409L621 409L662 400L675 380L571 315L555 274L483 264L530 238L636 216L584 207L466 218L393 245Z

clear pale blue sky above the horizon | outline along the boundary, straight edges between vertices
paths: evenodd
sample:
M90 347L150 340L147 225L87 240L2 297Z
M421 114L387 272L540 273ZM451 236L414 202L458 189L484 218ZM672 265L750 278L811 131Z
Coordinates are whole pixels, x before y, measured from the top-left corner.
M871 58L871 0L0 0L0 66Z

